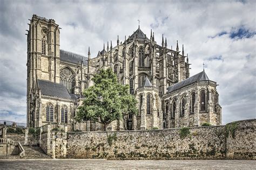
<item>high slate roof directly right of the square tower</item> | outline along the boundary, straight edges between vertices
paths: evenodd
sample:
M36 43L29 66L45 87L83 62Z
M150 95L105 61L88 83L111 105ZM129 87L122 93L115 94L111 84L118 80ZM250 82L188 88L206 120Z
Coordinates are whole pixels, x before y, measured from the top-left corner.
M83 59L83 64L84 66L87 66L87 57L83 55L79 55L76 53L72 53L69 51L64 51L63 49L59 50L59 56L60 60L68 61L68 62L73 62L73 63L81 63Z

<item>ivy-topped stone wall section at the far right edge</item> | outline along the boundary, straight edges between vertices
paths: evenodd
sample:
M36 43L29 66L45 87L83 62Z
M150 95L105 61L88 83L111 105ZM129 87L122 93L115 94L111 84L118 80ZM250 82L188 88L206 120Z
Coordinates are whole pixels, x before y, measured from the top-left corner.
M227 125L227 158L256 159L256 119Z

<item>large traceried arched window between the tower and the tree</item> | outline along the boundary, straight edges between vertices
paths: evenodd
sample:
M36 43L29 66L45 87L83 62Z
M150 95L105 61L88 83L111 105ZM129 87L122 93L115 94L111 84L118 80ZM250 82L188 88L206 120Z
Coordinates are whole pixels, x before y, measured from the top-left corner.
M64 68L60 71L60 83L62 83L69 93L74 93L75 76L69 68Z

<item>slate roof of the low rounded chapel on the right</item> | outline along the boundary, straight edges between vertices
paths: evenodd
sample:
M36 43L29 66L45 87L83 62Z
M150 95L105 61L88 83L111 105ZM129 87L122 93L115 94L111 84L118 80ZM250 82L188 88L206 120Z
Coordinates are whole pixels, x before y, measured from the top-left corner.
M199 81L205 81L205 80L209 80L208 76L205 73L205 70L203 70L203 72L200 72L196 75L193 75L189 78L187 78L186 80L183 80L177 84L174 84L173 86L170 86L167 88L167 93L170 93L174 90L178 90L181 87L187 86L188 84L194 83L194 82L199 82Z

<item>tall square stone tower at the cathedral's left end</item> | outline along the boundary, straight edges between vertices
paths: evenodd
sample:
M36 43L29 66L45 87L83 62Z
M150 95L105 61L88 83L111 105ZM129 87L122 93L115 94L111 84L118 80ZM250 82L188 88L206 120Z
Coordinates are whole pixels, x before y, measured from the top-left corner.
M37 124L39 109L35 106L37 79L59 83L59 26L53 19L33 15L27 34L27 123ZM38 103L38 101L37 101ZM38 103L39 104L39 103Z

